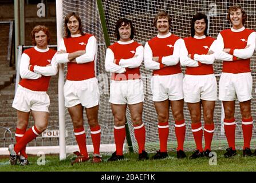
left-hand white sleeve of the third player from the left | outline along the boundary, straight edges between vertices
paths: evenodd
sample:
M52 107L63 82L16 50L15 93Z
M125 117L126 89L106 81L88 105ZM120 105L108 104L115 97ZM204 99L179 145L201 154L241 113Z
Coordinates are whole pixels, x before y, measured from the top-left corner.
M105 58L105 69L107 72L112 72L112 73L125 73L125 68L117 65L114 63L115 60L115 55L113 51L108 48L106 51L106 58Z

